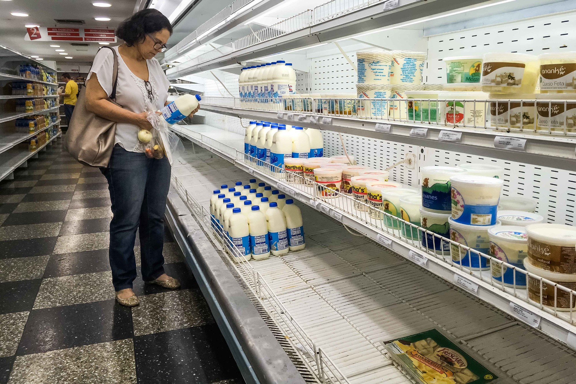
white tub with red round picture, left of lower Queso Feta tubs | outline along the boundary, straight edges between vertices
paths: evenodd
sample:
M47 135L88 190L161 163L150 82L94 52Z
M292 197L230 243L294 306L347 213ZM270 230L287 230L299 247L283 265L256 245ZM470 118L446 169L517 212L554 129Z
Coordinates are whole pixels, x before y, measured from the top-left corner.
M445 125L484 127L488 93L440 92L440 121Z

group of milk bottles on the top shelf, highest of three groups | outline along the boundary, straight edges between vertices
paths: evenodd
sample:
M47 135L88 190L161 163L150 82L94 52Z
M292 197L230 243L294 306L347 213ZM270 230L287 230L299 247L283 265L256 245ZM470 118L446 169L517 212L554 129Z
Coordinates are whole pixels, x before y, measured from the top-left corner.
M296 72L291 63L283 60L243 67L238 93L244 107L264 107L260 104L296 93Z

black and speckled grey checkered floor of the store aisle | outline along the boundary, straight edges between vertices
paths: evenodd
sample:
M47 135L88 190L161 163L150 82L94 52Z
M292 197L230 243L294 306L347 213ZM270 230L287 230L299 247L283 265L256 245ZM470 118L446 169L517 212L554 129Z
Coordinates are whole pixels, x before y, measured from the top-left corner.
M170 234L165 269L182 288L137 278L141 305L122 307L104 176L62 140L28 164L0 182L0 384L243 383Z

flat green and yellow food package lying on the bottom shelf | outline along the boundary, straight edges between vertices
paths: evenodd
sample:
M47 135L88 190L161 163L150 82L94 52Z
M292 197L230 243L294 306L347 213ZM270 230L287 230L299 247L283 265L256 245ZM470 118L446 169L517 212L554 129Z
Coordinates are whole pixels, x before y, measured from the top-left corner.
M498 378L436 329L382 344L420 384L484 384Z

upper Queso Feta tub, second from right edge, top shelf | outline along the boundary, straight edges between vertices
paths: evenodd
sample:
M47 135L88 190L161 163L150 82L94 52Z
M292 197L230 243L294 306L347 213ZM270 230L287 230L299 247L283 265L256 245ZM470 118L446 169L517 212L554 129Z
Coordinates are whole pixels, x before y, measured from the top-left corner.
M482 91L488 93L534 93L539 62L534 55L488 53L482 57Z

